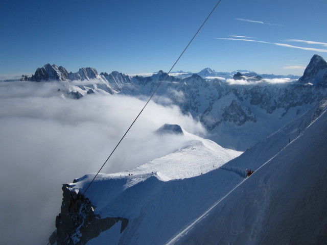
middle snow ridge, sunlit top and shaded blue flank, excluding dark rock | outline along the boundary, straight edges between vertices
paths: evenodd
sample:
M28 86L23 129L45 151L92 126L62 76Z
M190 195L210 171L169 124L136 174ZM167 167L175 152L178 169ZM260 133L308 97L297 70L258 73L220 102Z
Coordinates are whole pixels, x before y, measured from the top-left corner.
M211 140L182 131L181 137L187 140L179 150L134 169L100 174L96 178L85 194L95 207L95 214L101 218L128 218L129 224L122 234L113 232L112 229L116 228L112 227L91 239L90 244L103 244L102 239L107 236L111 237L111 242L119 241L112 244L154 244L158 239L163 243L213 202L214 197L208 197L208 192L203 192L203 189L211 188L214 192L224 193L225 190L217 188L215 184L207 187L204 174L238 157L242 152L224 149ZM194 191L189 187L196 176L200 177L201 183L198 184L200 189ZM93 177L94 174L85 175L69 184L69 187L73 192L83 192ZM183 179L191 182L178 184L176 189L176 183ZM228 176L222 176L222 179L231 186L239 181L239 178L230 181ZM190 202L196 202L197 205L187 206ZM181 212L183 215L180 216ZM165 222L160 221L163 219ZM163 226L167 225L170 228L165 228L166 231L158 237L157 230L163 230ZM78 235L77 230L73 237Z

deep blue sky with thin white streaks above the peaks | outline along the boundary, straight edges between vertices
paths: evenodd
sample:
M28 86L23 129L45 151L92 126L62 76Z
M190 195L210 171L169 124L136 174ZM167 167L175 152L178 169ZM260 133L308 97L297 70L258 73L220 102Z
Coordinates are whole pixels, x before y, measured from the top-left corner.
M0 76L32 75L46 63L168 71L216 3L2 0ZM326 12L325 0L222 0L173 70L302 75L314 54L327 58Z

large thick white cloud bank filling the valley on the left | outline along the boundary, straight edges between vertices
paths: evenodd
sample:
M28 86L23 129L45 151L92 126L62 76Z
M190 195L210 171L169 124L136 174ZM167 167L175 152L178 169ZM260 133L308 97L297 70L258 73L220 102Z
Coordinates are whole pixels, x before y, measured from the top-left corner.
M64 99L56 82L0 87L0 218L6 223L0 237L6 244L46 244L60 212L61 184L97 172L145 102L97 94ZM153 134L165 123L205 134L200 122L176 106L150 102L102 172L130 169L176 150L180 137Z

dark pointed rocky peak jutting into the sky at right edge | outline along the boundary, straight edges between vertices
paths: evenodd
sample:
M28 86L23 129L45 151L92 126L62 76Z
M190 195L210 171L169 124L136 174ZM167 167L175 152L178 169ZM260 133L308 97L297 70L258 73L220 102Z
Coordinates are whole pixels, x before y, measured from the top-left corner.
M314 55L303 76L299 78L300 83L326 84L327 83L327 63L319 55Z

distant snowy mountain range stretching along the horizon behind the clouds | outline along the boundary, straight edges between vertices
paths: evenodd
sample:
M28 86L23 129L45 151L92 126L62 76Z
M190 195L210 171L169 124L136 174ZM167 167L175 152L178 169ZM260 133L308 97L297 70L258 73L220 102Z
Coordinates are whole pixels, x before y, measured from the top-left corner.
M326 67L327 63L315 55L298 81L263 78L247 70L231 75L206 68L183 79L167 76L153 99L157 103L177 105L184 114L191 113L209 131L209 139L226 148L245 151L327 95ZM223 78L223 73L228 77L225 80L199 76ZM162 70L150 77L130 77L118 71L99 75L93 68L68 73L61 66L47 64L38 68L30 80L60 80L66 88L61 92L75 99L92 93L147 98L166 75ZM77 81L70 80L73 78Z

